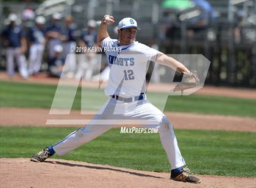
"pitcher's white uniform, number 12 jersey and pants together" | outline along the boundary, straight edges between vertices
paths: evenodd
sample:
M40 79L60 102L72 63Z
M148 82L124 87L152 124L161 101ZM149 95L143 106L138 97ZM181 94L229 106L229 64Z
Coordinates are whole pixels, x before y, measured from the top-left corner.
M118 40L105 38L102 41L102 47L115 49L118 47ZM110 78L105 94L108 96L119 95L124 98L138 96L146 90L145 77L148 60L154 60L158 54L162 53L139 42L121 47L122 50L119 53L106 52L110 64ZM103 123L102 120L104 120ZM143 124L139 126L157 128L171 169L177 169L177 167L185 165L172 123L163 112L144 97L140 102L123 102L108 98L87 126L70 133L66 138L54 144L53 149L58 155L65 155L112 129L112 127L122 125L115 124L115 120L118 120L119 123L122 121L124 124L127 124L129 120L142 120Z

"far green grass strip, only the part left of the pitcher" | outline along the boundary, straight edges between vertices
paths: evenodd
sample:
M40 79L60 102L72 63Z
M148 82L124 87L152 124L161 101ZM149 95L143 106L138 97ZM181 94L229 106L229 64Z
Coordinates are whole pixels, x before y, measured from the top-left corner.
M50 109L54 99L57 86L48 84L27 84L22 82L0 82L0 106L1 107L31 107L31 108L46 108ZM73 86L62 87L65 96L61 103L65 104L69 100L66 96L72 92L76 92L72 109L80 109L81 104L81 87L76 89ZM90 96L86 98L87 104L85 109L98 110L104 104L107 97L104 95L104 90L93 88L85 88L84 95ZM66 100L66 101L65 101Z

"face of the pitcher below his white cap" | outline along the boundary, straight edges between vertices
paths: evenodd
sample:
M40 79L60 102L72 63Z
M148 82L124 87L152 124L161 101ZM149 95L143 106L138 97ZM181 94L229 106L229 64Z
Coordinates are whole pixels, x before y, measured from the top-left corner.
M137 28L131 27L128 29L118 30L119 42L121 45L132 44L135 41Z

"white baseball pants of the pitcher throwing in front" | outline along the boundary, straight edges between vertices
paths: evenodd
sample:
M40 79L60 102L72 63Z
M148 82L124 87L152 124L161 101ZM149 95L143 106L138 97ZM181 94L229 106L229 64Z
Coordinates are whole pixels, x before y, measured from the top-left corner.
M124 121L124 124L129 124L128 120L135 120L138 123L142 123L140 127L158 128L158 133L171 164L171 169L184 166L185 161L180 154L171 122L148 100L145 99L144 101L137 102L122 102L116 101L113 98L108 99L87 126L70 133L66 138L56 143L53 146L54 151L57 155L65 155L112 127L121 127L122 125L120 124L112 124L116 120ZM104 124L100 124L102 122L101 119L104 121Z

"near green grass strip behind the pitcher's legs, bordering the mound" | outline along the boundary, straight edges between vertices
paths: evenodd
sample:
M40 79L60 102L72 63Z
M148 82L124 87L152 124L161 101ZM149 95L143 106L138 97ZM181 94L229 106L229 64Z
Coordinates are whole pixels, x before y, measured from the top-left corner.
M74 128L0 127L1 158L30 158ZM256 176L255 133L176 130L180 150L197 174ZM140 143L140 144L138 144ZM112 129L65 156L53 158L108 164L138 170L169 172L158 134L120 134Z

